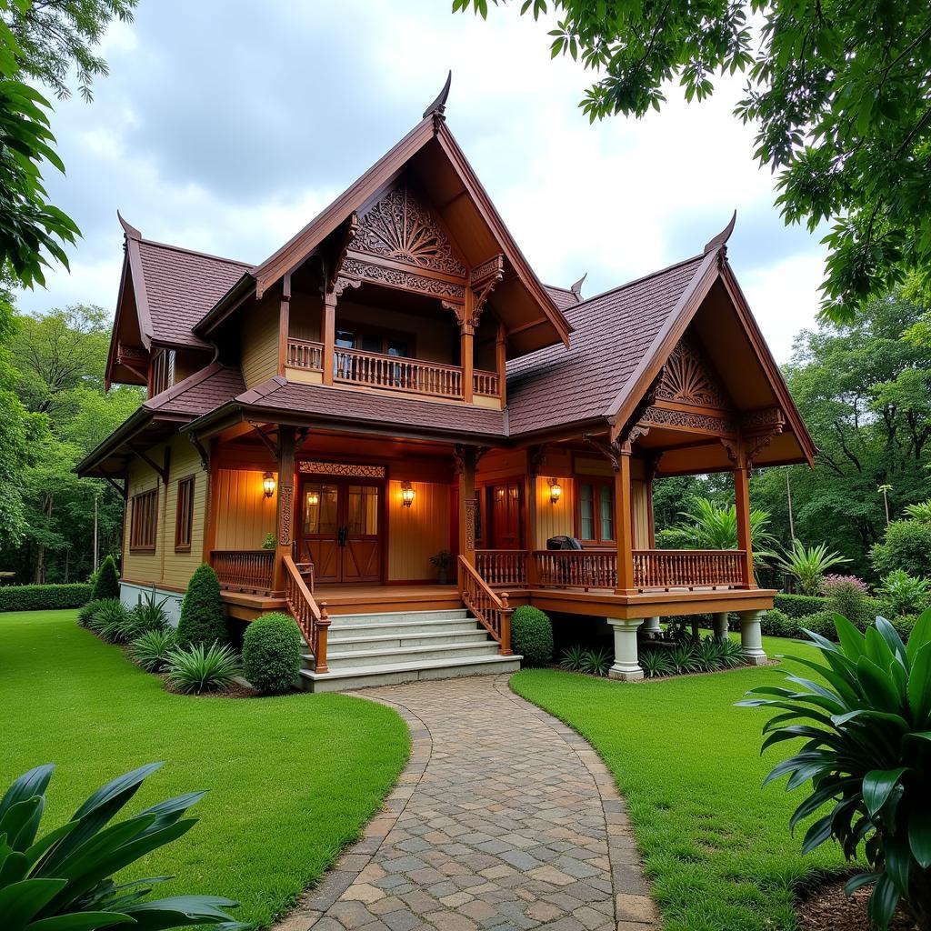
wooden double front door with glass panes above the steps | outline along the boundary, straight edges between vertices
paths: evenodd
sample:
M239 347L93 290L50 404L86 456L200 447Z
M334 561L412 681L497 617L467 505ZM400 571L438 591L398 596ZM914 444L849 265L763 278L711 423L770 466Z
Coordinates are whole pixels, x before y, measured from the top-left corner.
M384 483L305 476L300 487L300 559L317 583L380 582Z

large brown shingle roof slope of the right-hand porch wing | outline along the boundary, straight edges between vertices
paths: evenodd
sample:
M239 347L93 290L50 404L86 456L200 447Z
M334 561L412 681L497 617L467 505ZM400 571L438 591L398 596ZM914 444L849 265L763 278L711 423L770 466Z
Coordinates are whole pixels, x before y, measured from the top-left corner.
M569 348L507 363L511 436L606 416L691 283L704 255L576 304Z

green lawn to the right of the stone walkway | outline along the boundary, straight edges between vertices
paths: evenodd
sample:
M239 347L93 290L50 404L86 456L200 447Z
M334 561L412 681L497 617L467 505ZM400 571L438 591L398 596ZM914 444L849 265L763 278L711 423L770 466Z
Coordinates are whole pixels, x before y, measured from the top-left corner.
M765 638L764 646L770 655L817 653L786 640ZM754 685L781 684L790 667L641 685L551 669L511 679L515 692L585 736L610 767L665 931L790 931L793 889L843 866L830 845L801 856L804 830L793 839L789 816L807 792L787 793L784 779L760 789L788 745L761 758L769 714L734 707Z

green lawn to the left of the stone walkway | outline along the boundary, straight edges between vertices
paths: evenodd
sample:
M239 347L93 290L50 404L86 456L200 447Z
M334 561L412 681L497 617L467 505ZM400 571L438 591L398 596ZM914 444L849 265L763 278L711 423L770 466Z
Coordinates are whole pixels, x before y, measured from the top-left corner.
M236 898L236 918L259 926L358 837L410 749L394 711L348 695L170 695L73 611L0 614L0 669L0 794L54 762L48 830L114 776L167 761L127 810L209 789L200 821L125 875L176 876L163 895Z

